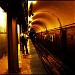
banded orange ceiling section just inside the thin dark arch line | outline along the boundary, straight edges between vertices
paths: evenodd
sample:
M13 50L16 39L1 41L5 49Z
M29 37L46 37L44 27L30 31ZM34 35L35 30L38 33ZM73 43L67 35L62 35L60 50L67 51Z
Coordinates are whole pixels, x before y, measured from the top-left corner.
M49 12L39 12L33 16L33 23L40 23L47 29L53 29L59 27L59 21L57 20L55 15L52 15ZM54 25L56 24L56 25Z

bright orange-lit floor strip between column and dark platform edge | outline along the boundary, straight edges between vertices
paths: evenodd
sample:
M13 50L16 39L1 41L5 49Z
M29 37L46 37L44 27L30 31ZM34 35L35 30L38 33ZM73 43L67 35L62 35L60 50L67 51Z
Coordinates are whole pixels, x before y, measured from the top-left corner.
M22 51L20 51L20 44L18 44L18 59L19 59L19 68L21 69L20 74L32 74L30 69L30 60L32 58L32 55L30 55L30 46L29 46L29 40L27 42L27 48L29 55L22 54ZM25 50L25 47L24 47Z

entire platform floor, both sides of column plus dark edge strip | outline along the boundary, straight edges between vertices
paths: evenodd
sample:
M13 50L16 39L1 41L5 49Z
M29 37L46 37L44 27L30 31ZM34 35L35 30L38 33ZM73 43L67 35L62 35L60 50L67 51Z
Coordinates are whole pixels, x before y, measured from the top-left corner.
M29 54L23 55L22 51L20 50L20 44L18 44L18 62L20 69L18 74L47 74L41 59L39 58L36 49L30 39L28 39L27 47ZM4 56L2 61L5 62L4 64L1 64L3 67L2 70L0 70L0 74L8 74L7 56Z

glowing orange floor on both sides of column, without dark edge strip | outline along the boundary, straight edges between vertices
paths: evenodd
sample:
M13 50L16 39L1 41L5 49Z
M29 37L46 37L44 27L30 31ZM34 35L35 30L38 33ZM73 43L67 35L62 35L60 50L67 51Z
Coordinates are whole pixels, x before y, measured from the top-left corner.
M29 46L29 40L27 43L28 52L30 53L30 46ZM22 55L22 51L20 51L20 44L18 44L18 63L19 68L21 68L21 74L31 74L30 70L30 58L31 55ZM0 59L0 74L5 74L8 72L8 56L3 56Z

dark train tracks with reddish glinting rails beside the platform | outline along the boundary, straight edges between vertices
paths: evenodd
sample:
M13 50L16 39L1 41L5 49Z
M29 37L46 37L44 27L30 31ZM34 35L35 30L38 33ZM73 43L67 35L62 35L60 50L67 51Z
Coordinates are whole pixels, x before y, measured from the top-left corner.
M50 75L73 75L68 67L66 67L56 56L52 55L39 43L35 44L37 53L41 61Z

